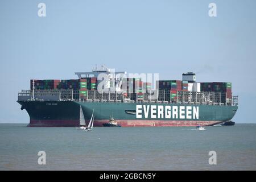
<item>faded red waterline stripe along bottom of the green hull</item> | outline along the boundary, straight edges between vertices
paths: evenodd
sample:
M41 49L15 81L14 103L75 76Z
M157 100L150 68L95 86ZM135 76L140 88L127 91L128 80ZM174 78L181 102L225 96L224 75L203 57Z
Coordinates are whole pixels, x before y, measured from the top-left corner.
M94 126L102 126L109 120L94 120ZM89 121L86 121L88 124ZM221 123L221 121L161 121L161 120L124 120L118 119L117 123L122 127L162 127L162 126L211 126ZM79 120L30 120L29 126L79 126Z

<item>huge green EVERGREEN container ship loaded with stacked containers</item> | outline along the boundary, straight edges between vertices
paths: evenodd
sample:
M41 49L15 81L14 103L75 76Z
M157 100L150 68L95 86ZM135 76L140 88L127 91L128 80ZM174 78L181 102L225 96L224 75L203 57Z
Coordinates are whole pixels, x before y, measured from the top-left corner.
M80 107L86 124L94 110L94 126L103 126L110 116L122 127L212 126L230 121L238 109L231 82L196 82L193 72L154 84L115 77L126 72L113 74L106 67L75 74L72 80L30 80L31 88L18 93L28 126L79 126Z

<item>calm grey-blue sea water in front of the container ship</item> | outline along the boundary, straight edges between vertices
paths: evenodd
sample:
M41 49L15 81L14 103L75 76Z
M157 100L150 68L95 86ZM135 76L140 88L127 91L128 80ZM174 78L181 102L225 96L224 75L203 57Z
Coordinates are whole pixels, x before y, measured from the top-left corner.
M256 124L205 127L0 124L1 170L255 170ZM39 151L46 165L39 165ZM217 152L210 165L209 151Z

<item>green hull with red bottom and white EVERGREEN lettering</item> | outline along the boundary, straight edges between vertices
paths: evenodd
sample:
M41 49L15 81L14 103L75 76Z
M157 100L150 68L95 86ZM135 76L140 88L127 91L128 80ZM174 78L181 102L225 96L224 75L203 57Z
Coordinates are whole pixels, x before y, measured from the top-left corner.
M29 126L79 126L80 106L86 123L94 110L94 126L109 122L121 126L210 126L230 121L238 106L147 104L75 101L18 101L30 115ZM137 106L138 105L138 106ZM152 112L151 112L152 111Z

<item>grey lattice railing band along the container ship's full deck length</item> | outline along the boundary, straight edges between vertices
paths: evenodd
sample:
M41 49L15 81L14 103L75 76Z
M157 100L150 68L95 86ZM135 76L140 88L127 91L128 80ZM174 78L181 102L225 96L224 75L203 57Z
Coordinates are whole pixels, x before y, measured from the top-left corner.
M238 105L238 96L228 98L221 92L183 92L175 93L156 90L155 94L141 93L98 93L88 90L86 97L81 98L79 90L34 90L34 100L40 101L82 101L82 102L138 102L138 103L174 103L174 104L203 104L203 105ZM22 90L18 100L32 100L32 90ZM230 96L229 96L230 97Z

